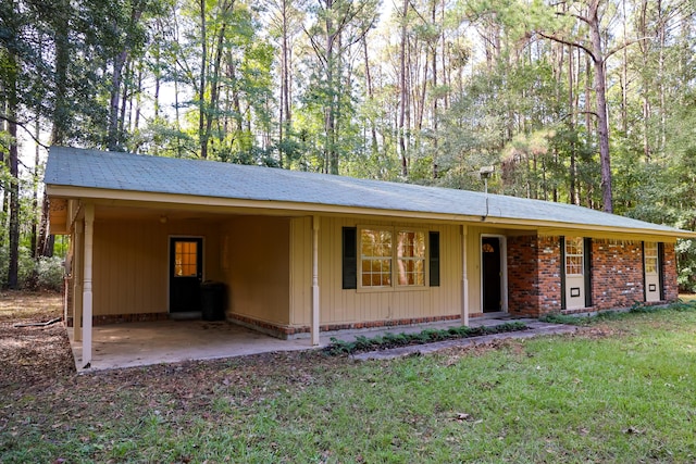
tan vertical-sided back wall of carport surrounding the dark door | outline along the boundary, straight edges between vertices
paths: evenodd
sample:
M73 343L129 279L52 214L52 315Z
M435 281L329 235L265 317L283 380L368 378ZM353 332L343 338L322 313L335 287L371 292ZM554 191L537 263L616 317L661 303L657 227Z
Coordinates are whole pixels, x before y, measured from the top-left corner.
M203 276L220 279L220 227L207 222L95 222L95 315L169 312L169 239L202 237Z

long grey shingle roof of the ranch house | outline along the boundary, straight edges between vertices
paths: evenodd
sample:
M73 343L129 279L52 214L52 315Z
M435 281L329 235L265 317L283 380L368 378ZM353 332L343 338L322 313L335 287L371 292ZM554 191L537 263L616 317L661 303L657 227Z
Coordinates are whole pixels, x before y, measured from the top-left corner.
M482 192L64 147L51 148L45 183L52 186L306 203L308 210L312 204L321 204L434 213L443 215L443 218L482 217L486 214L486 200ZM586 208L499 195L489 195L487 217L679 235L675 234L679 230L672 227Z

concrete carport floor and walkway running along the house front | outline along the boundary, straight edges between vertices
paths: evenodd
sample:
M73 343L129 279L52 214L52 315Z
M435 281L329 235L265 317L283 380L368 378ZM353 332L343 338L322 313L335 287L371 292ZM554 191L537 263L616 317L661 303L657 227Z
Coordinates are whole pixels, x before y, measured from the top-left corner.
M470 326L495 326L510 321L519 321L533 327L530 330L499 334L496 336L471 339L449 340L414 347L405 347L373 353L361 353L356 359L389 359L414 352L428 353L438 349L483 342L494 338L529 338L543 334L574 331L575 327L539 323L536 319L522 318L473 318ZM344 341L353 341L363 335L368 338L386 333L419 333L425 328L449 328L460 326L460 321L446 321L434 324L385 327L380 329L339 330L322 333L319 347L312 347L308 338L279 340L254 330L227 322L204 321L162 321L151 323L127 323L97 326L92 329L92 362L87 369L82 363L82 342L75 341L73 328L67 329L77 372L95 372L123 367L146 366L160 363L177 363L189 360L213 360L246 356L277 351L300 351L320 349L331 343L335 337Z

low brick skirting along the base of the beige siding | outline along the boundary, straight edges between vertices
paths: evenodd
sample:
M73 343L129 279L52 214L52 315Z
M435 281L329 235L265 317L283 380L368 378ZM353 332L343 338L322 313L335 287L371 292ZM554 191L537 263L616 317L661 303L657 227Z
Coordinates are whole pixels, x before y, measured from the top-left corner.
M459 314L450 314L446 316L407 317L402 319L369 321L364 323L322 324L319 326L319 331L321 333L334 330L359 330L364 328L400 327L442 321L456 321L461 316ZM247 317L239 314L228 314L227 318L243 326L257 330L260 329L260 331L263 331L264 334L272 335L276 338L282 339L301 338L302 335L308 335L311 330L309 326L283 326L265 321L258 321L252 317Z

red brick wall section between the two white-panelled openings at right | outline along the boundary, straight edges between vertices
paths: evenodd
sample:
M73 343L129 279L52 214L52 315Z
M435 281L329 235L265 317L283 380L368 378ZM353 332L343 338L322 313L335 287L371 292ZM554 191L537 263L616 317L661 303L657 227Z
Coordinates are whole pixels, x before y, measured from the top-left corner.
M631 308L645 301L643 246L639 241L592 241L592 302L594 310Z

